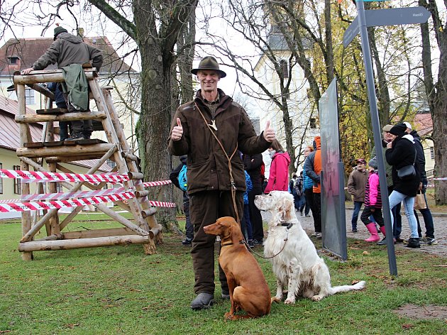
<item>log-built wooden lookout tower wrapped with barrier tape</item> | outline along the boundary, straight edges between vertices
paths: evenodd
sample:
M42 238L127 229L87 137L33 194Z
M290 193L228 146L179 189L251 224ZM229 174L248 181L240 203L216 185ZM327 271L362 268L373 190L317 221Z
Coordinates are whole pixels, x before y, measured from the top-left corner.
M115 246L131 243L142 243L146 254L155 253L155 243L162 242L161 226L155 219L155 207L150 205L148 191L144 190L143 174L138 170L138 157L133 154L129 147L123 128L114 109L111 99L111 87L99 87L96 79L96 69L84 69L90 89L89 99L94 99L98 111L75 112L62 114L57 109L50 109L54 100L53 92L38 83L64 82L62 70L41 70L33 71L29 75L20 75L19 72L13 77L18 98L18 115L16 123L20 125L21 148L17 149L17 155L21 159L21 170L33 168L41 172L72 173L59 163L69 163L76 160L99 159L99 161L89 169L87 174L93 174L101 167L106 160L113 160L116 163L114 171L119 174L128 175L129 180L123 182L126 191L133 191L136 197L128 199L128 204L116 202L119 207L133 214L134 222L124 218L114 212L106 204L94 204L99 211L107 214L123 225L115 229L93 229L88 231L69 231L63 229L82 210L82 206L68 214L62 221L59 220L58 209L44 211L44 215L32 223L31 213L22 212L22 234L18 250L22 253L23 260L33 259L33 251L62 250L72 248L89 248L95 246ZM32 87L47 97L45 110L38 114L26 114L25 87ZM100 140L81 140L77 142L55 142L54 121L74 121L74 120L98 120L106 133L108 143ZM43 122L42 142L33 142L29 123ZM97 123L97 122L96 122ZM43 160L47 163L48 170L43 167ZM67 192L76 192L82 185L91 190L101 190L105 183L93 185L89 182L61 182L67 188ZM57 192L57 182L49 183L50 193ZM28 183L21 183L21 194L30 194ZM43 187L40 187L40 193ZM46 237L34 240L35 234L45 226Z

